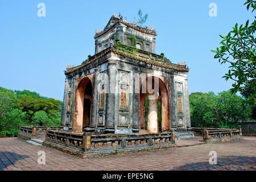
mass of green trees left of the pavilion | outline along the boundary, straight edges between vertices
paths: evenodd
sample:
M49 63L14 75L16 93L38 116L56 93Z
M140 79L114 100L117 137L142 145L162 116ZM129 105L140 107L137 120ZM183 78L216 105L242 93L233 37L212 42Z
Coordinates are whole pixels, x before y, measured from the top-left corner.
M0 87L0 135L17 134L19 125L59 126L62 102L29 90Z

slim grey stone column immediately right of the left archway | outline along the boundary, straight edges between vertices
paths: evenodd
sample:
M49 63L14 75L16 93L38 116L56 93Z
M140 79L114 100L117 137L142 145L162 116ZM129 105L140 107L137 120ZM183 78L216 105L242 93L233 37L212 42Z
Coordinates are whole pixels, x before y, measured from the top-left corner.
M97 111L98 111L98 88L99 88L99 71L98 68L94 69L93 77L93 103L91 104L91 122L90 127L96 127L97 125Z

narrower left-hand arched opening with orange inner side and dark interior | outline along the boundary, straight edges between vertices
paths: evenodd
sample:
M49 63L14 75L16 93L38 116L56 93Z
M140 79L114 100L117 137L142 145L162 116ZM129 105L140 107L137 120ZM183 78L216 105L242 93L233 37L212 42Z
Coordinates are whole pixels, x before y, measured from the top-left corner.
M73 123L74 132L81 132L82 129L90 127L92 96L93 86L90 79L85 77L79 82L77 88Z

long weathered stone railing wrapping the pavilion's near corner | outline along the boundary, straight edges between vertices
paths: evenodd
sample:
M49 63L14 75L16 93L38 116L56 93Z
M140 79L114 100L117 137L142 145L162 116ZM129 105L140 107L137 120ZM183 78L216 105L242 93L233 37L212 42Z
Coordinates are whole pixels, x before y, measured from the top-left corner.
M82 158L175 146L174 133L92 134L46 130L43 145Z

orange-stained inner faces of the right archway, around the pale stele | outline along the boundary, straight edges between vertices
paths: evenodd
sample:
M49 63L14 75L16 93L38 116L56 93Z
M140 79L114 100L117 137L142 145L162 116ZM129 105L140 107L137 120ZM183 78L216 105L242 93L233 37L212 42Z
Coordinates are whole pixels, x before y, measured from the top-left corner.
M170 119L169 119L169 92L165 82L162 78L157 76L147 76L145 80L140 81L140 92L139 92L139 128L145 128L145 98L149 93L147 92L147 82L149 79L155 80L158 78L159 96L158 100L161 101L161 131L165 132L170 130ZM146 93L142 93L142 88L146 89ZM146 87L146 88L145 88ZM159 132L159 130L157 130Z

